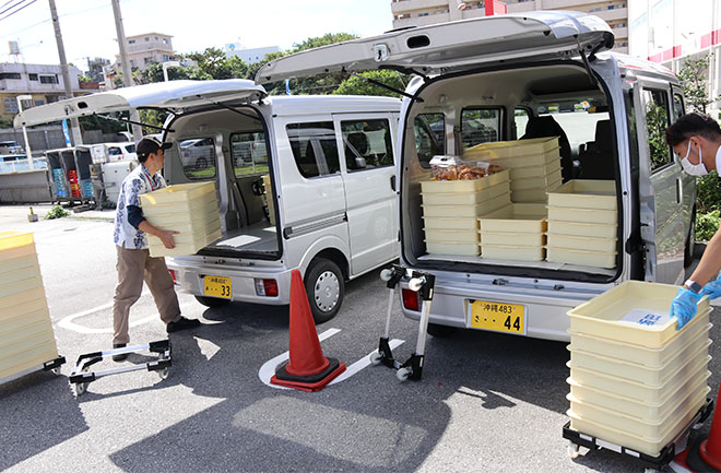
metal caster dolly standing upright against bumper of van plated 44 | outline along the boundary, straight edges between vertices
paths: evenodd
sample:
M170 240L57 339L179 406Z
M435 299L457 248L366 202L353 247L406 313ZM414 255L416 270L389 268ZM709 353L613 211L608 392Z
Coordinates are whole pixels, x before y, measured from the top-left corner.
M395 369L395 377L405 381L411 379L417 381L423 374L423 360L425 357L426 348L426 332L428 330L428 317L430 315L430 301L433 300L433 289L436 282L436 276L429 273L419 271L412 271L405 268L393 264L391 268L385 269L380 272L380 279L386 281L386 286L390 291L388 297L388 314L386 317L386 332L380 338L378 343L378 352L370 355L370 363L374 365L383 364L389 368ZM416 342L415 352L403 364L393 357L393 352L390 347L390 319L393 311L393 295L395 287L403 280L409 280L409 288L421 295L423 306L421 308L421 320L418 322L418 340Z

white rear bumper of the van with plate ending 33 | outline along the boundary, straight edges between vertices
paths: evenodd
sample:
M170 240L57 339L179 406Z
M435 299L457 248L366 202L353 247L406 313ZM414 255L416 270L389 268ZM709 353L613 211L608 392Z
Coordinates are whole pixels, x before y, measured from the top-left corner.
M232 299L245 303L267 304L281 306L289 304L291 271L287 268L232 268L220 264L184 264L182 261L168 260L168 270L175 272L176 287L179 291L204 296L203 277L222 276L229 277L232 282ZM260 296L256 292L256 280L275 280L277 283L277 296Z

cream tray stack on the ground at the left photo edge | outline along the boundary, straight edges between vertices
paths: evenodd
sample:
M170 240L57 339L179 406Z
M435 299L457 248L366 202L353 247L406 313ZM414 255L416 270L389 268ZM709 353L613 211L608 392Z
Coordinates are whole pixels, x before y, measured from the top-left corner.
M0 380L58 358L33 234L0 233Z

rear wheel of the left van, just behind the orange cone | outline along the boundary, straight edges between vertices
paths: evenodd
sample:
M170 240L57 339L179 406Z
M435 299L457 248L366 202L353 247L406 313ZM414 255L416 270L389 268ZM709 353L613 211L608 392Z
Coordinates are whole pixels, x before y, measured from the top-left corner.
M345 293L343 272L338 264L323 258L315 260L306 272L305 285L316 323L335 317Z

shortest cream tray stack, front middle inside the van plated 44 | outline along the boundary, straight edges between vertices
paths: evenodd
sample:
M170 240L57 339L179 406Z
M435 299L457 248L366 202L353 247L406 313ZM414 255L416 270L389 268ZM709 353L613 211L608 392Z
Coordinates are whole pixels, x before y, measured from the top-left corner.
M478 218L483 258L542 261L545 257L546 206L513 203Z

